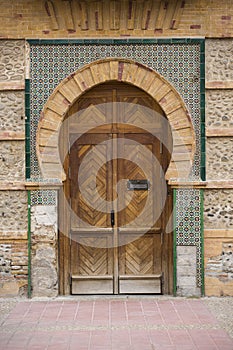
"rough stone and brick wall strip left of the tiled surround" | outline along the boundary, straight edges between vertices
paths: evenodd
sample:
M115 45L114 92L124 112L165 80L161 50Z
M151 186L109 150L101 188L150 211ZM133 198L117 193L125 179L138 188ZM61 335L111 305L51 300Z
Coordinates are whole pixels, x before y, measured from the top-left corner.
M25 42L0 41L0 296L27 294Z

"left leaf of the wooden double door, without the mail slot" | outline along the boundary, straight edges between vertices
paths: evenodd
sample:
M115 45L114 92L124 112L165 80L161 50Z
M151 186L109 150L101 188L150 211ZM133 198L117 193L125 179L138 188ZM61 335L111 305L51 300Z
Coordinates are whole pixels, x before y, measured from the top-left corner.
M71 293L113 293L111 134L71 134Z

